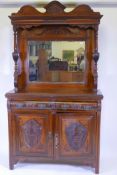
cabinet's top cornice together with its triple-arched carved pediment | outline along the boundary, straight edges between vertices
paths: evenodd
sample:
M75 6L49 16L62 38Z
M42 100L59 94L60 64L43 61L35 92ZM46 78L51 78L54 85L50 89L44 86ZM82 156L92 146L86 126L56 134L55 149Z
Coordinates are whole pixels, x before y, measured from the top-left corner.
M52 1L44 8L45 12L42 13L33 6L25 5L21 7L17 13L12 13L10 16L12 24L14 26L18 26L19 28L28 29L40 26L40 24L69 23L84 29L95 29L99 24L99 19L102 17L99 12L94 12L88 5L79 5L72 11L65 12L66 7L63 4L58 1ZM70 20L71 18L72 20ZM86 23L87 19L90 19L90 23ZM67 20L69 22L67 22Z

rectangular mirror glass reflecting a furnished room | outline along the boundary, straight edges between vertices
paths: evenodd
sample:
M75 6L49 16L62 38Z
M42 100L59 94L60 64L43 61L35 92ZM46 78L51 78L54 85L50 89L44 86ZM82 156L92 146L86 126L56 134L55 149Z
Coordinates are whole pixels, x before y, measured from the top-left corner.
M28 41L29 81L83 82L85 41Z

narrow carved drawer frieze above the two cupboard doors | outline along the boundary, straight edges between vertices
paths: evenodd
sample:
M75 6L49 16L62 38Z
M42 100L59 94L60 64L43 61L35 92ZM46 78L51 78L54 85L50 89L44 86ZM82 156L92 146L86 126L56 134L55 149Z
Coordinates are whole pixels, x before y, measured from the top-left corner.
M9 102L8 107L16 109L61 109L61 110L100 110L97 103L80 103L80 102Z

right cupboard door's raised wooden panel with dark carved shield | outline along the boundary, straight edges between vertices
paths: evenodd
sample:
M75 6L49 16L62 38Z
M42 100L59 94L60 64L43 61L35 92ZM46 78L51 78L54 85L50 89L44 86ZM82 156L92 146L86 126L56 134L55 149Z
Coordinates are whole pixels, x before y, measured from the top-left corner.
M55 138L55 150L58 156L56 157L77 159L93 154L96 134L95 114L58 113L57 116L58 137Z

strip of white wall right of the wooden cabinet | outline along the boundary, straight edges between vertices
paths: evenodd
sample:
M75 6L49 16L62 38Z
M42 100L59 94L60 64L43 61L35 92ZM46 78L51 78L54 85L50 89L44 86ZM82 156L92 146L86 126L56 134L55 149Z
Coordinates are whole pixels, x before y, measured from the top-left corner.
M101 153L117 156L117 8L95 9L104 16L99 28L98 87L102 102Z

